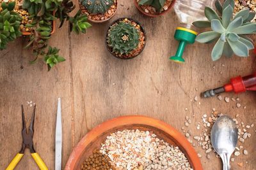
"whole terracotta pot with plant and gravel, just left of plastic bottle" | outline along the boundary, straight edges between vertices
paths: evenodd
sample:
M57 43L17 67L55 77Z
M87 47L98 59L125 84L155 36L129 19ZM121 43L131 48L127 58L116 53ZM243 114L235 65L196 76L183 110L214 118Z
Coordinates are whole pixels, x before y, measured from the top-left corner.
M134 0L136 8L148 17L164 15L172 9L176 0Z

